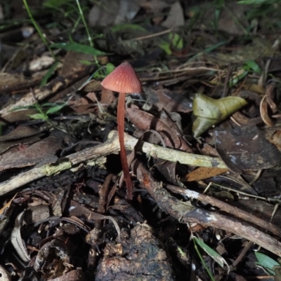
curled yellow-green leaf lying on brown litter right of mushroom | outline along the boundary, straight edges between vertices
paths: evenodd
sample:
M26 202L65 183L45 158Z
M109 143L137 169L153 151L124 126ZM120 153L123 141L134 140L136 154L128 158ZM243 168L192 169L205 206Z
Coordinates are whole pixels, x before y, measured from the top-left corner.
M212 125L225 120L246 104L246 100L242 97L223 97L214 100L206 95L197 94L193 102L192 132L194 137L200 137Z

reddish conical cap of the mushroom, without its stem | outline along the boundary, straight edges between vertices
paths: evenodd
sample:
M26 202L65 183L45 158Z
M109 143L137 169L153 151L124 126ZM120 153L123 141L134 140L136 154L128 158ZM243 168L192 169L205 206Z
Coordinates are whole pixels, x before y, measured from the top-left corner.
M124 62L116 67L100 84L108 90L125 92L126 94L142 91L141 82L129 62Z

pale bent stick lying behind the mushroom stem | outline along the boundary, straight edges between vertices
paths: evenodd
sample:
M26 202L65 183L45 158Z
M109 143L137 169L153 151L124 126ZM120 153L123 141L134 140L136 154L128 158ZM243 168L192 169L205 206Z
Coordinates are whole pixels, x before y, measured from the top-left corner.
M133 147L138 142L138 139L125 134L125 146L128 150L133 150ZM220 158L201 156L192 153L186 153L184 151L176 151L174 149L166 149L162 146L157 146L155 144L149 144L148 142L143 142L141 146L141 151L146 153L148 157L157 157L164 160L169 160L172 162L179 162L185 165L192 165L197 167L221 167L226 168L226 165ZM110 132L108 135L107 142L94 146L89 149L84 149L77 153L73 153L63 159L60 159L59 163L55 165L42 165L41 167L35 167L28 172L22 172L18 176L4 181L0 184L0 196L17 189L24 184L28 184L35 179L40 179L41 177L51 176L52 174L61 172L72 168L74 165L79 163L85 163L90 160L94 160L103 156L107 156L111 153L119 152L119 139L116 131Z

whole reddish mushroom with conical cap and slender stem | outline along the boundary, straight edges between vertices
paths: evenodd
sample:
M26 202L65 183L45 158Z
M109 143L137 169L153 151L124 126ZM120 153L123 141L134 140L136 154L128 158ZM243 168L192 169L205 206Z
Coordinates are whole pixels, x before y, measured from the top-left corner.
M117 105L117 128L120 144L120 158L122 170L124 172L124 181L126 183L127 198L133 198L133 184L129 173L129 165L126 158L124 146L124 118L125 118L125 95L135 92L141 92L141 82L129 62L124 62L116 67L111 74L107 75L100 83L103 88L119 92Z

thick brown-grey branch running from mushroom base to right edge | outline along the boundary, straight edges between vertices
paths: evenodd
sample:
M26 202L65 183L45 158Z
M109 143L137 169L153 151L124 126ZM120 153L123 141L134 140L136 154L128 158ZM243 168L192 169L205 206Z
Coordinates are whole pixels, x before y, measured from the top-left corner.
M174 196L171 196L171 194L162 187L160 182L152 178L150 172L145 169L142 163L135 161L134 165L138 181L140 181L150 195L155 198L159 207L164 210L164 212L178 219L181 223L197 223L220 228L224 231L240 235L242 238L250 240L268 249L268 251L277 254L277 256L281 256L281 242L277 239L232 217L202 210L174 198Z

